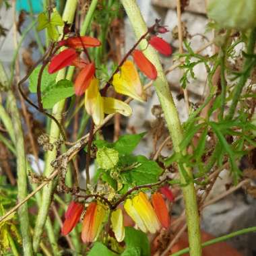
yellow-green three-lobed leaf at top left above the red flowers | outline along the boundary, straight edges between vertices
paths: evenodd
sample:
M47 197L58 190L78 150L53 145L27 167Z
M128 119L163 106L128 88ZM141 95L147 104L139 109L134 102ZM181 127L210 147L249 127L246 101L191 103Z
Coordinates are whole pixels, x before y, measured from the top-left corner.
M47 29L47 34L51 40L57 41L59 38L59 31L57 26L63 26L64 22L61 19L61 15L59 15L58 11L55 10L51 13L51 18L49 20L48 13L40 13L38 15L38 25L36 29L38 31L43 30L44 28Z

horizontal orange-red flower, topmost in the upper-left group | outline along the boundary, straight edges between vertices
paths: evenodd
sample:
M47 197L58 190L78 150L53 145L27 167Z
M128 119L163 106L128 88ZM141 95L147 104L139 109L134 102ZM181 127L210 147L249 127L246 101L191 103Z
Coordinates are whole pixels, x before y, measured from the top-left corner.
M91 36L77 36L77 37L69 37L66 40L62 40L59 42L61 46L68 46L71 48L84 48L84 47L96 47L100 46L101 42L94 37Z

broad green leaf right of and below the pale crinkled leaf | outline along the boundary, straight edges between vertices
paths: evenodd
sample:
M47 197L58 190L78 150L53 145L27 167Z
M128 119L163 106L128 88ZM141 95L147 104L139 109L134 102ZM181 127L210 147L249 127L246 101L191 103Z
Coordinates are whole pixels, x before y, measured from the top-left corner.
M130 185L144 185L156 183L162 174L162 168L145 156L125 156L120 158L120 164L123 166L132 166L131 170L123 170L121 177Z

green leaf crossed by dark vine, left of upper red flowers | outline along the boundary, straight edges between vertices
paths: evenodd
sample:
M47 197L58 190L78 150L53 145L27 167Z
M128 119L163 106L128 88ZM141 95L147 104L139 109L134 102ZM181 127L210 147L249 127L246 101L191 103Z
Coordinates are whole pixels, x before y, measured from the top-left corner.
M42 65L38 65L29 77L29 90L32 93L36 93L37 90L37 83L38 83L38 75L40 72ZM49 87L52 84L55 84L55 80L57 77L57 73L49 74L47 71L47 67L45 67L44 71L42 72L42 79L41 79L41 92L45 90L45 88Z

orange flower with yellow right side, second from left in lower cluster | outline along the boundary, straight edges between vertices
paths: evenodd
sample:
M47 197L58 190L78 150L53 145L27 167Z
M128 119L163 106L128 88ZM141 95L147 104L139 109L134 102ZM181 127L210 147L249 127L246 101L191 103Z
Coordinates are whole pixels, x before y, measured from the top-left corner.
M106 213L106 207L101 203L90 203L86 210L82 226L82 241L84 243L96 241L106 218Z

